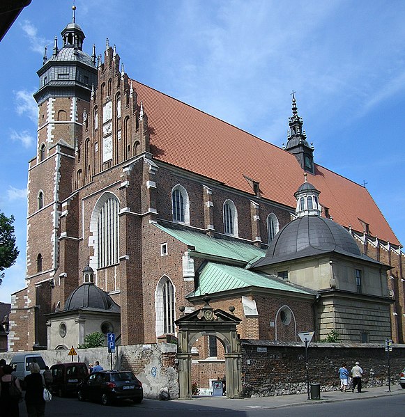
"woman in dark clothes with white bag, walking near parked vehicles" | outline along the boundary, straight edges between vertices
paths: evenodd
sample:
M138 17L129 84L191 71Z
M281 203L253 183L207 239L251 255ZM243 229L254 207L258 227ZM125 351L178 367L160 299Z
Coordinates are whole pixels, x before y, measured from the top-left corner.
M44 383L38 363L31 362L29 370L31 374L24 378L26 414L28 417L44 417Z

